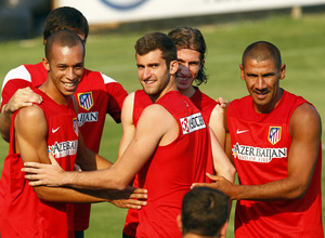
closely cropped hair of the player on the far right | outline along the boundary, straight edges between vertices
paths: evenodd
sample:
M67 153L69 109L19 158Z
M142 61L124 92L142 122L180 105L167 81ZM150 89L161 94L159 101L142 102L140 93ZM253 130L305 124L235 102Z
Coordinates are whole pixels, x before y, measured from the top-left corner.
M246 48L242 57L243 67L245 67L245 62L248 58L253 58L258 62L273 60L278 70L282 65L280 50L268 41L257 41Z

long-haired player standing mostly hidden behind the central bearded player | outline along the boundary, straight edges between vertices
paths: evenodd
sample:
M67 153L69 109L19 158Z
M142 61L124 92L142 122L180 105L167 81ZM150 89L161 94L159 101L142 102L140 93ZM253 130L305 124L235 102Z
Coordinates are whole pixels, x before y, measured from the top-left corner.
M177 71L177 85L182 95L187 96L194 105L202 111L206 123L209 124L217 136L222 148L225 143L224 109L211 97L202 93L194 81L199 85L207 82L205 72L206 42L198 29L191 27L178 27L172 29L169 37L173 40L178 49L179 69ZM119 148L119 157L122 155L130 141L134 136L135 127L143 109L152 104L143 90L130 93L126 98L122 108L122 140ZM219 174L222 169L217 168ZM211 173L211 171L209 171ZM138 186L138 176L133 181L133 186ZM135 237L138 225L138 210L129 209L123 228L123 237ZM225 234L224 234L225 235Z

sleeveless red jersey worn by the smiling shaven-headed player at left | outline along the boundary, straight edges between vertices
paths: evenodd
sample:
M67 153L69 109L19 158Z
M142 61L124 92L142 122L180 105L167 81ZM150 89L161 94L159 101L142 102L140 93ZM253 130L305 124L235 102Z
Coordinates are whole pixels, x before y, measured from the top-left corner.
M66 171L74 170L78 149L78 124L74 104L58 105L42 91L35 89L43 102L38 105L48 124L47 144ZM4 160L1 183L4 189L0 219L1 237L74 237L74 207L72 203L40 200L21 171L23 160L14 151L14 119L11 123L9 155Z

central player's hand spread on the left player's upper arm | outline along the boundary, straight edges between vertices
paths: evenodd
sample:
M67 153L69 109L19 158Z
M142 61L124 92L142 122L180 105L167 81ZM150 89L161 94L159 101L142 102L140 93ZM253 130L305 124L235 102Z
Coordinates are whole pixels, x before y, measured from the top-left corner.
M65 171L60 167L53 157L52 153L49 153L51 164L38 163L38 162L25 162L25 168L22 169L26 172L26 180L29 180L30 186L50 186L58 187L63 185L65 177Z

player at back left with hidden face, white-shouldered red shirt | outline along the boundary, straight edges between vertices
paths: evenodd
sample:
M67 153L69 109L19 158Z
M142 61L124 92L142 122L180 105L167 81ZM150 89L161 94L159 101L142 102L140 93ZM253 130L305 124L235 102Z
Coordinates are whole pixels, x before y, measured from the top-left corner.
M69 6L53 10L46 21L44 42L58 29L76 31L86 43L89 26L86 17L78 10ZM47 76L48 71L42 63L21 65L5 76L1 92L0 117L1 135L5 141L9 142L12 114L21 107L41 102L41 96L34 93L31 89L41 85ZM122 103L127 95L126 90L114 79L99 71L83 70L75 97L78 102L78 125L88 148L99 153L106 114L119 123ZM109 166L106 160L98 161L98 168ZM89 227L90 204L76 204L76 235L83 237L81 230Z

